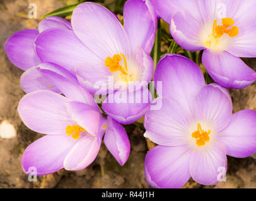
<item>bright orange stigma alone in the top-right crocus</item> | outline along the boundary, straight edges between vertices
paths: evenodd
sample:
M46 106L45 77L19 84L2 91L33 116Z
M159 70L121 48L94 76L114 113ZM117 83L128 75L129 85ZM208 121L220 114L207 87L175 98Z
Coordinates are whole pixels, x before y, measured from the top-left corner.
M223 25L217 25L217 19L214 20L212 26L212 36L214 36L214 38L220 38L224 35L224 33L226 33L231 38L238 35L239 29L237 26L233 26L235 21L232 18L223 18L222 24ZM230 26L232 26L231 29L228 29Z

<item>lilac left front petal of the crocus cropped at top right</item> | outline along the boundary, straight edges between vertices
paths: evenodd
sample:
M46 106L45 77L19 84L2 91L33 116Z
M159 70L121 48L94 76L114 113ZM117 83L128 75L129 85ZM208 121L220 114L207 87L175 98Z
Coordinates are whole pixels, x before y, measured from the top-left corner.
M198 21L186 11L178 11L173 14L170 23L170 32L173 39L185 50L204 50L199 35L204 23Z

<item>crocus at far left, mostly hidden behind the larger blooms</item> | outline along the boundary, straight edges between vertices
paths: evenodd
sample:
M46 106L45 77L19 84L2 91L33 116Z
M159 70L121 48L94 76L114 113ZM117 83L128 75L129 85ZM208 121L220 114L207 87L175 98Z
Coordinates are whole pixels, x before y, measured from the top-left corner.
M71 23L57 16L49 16L38 24L38 30L22 30L12 35L5 43L5 51L9 60L18 68L25 70L21 75L21 88L26 92L45 89L60 92L49 80L36 70L42 63L35 53L35 40L45 30L59 28L72 30ZM50 87L49 87L50 86Z

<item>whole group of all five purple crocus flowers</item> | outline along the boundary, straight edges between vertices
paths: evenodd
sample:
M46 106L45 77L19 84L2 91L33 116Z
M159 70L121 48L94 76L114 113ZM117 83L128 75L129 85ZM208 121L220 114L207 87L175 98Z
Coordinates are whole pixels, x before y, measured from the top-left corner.
M255 0L128 0L122 25L105 7L86 2L74 9L71 23L51 16L38 30L11 36L6 55L25 70L21 88L27 94L18 112L28 128L45 134L23 153L24 171L82 170L95 160L102 139L124 165L131 148L121 124L145 115L144 136L158 144L145 159L149 185L180 188L190 177L203 185L218 183L226 173L226 155L244 158L256 151L256 112L232 114L231 96L223 88L256 80L239 58L256 56L255 5ZM170 23L178 45L204 50L202 63L219 85L206 85L188 58L165 55L154 72L161 108L150 110L156 16ZM102 108L95 94L107 96Z

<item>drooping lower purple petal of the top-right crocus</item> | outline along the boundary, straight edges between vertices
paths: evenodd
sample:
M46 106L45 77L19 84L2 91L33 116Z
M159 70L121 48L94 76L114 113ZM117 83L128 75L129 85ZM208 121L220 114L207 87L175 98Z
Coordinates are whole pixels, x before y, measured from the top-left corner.
M228 52L204 50L202 63L212 79L226 88L241 89L256 80L256 72Z

